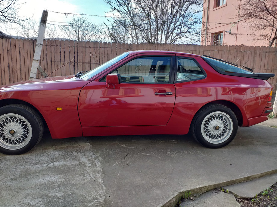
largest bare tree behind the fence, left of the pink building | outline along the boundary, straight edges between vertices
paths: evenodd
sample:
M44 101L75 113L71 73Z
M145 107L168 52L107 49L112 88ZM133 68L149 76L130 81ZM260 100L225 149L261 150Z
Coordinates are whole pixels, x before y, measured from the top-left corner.
M200 16L196 13L201 11L202 0L104 1L111 12L119 13L112 17L111 28L124 32L131 43L192 43L200 37ZM113 34L108 33L112 40Z

